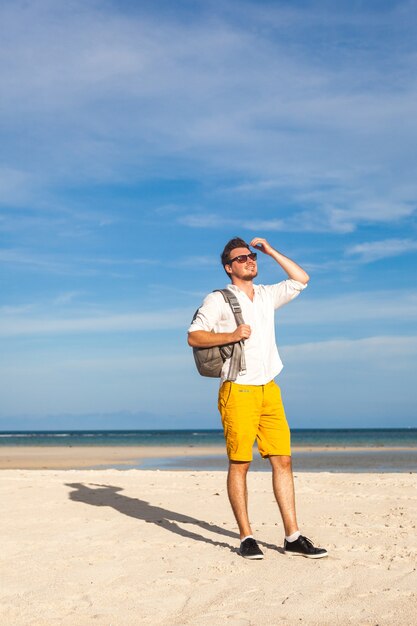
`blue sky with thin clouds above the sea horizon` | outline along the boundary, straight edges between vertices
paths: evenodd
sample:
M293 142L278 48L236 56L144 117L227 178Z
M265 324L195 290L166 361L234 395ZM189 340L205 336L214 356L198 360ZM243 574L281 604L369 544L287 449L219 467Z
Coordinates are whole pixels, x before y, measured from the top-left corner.
M416 23L4 0L0 428L218 427L186 328L235 235L311 275L277 314L290 424L415 426Z

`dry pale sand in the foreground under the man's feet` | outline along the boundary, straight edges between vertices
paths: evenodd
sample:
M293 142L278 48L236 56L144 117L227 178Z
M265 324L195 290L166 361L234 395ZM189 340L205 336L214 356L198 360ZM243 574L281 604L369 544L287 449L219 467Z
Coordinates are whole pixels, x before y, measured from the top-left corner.
M288 557L268 473L249 475L263 561L236 554L223 472L3 470L4 626L417 622L417 475L296 476L327 559Z

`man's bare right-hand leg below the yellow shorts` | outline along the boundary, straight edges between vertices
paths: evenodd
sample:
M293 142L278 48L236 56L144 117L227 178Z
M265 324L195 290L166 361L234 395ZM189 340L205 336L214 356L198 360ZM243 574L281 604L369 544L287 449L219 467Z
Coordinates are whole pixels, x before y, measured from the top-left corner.
M285 535L289 537L298 530L295 512L294 478L290 456L270 456L272 466L272 486L284 524Z

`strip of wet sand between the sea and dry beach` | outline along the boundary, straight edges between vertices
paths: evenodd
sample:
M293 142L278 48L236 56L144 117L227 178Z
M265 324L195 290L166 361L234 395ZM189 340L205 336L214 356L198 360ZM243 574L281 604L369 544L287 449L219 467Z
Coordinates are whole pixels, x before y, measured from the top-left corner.
M198 463L196 463L198 460ZM293 447L295 469L416 471L417 449L397 447ZM1 446L0 469L223 469L224 446ZM385 466L384 466L385 463ZM253 469L265 461L254 448Z

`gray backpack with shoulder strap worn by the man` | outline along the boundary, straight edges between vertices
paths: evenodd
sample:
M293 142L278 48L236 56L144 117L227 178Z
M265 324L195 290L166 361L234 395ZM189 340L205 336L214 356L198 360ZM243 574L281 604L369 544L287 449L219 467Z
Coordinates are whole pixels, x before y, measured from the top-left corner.
M236 326L244 324L242 309L235 294L229 289L215 289L220 291L226 302L229 303L236 320ZM199 309L194 314L195 320ZM226 359L230 359L227 380L234 381L238 374L246 372L245 353L243 341L231 343L226 346L213 346L212 348L193 348L193 355L197 370L201 376L220 378L222 367Z

